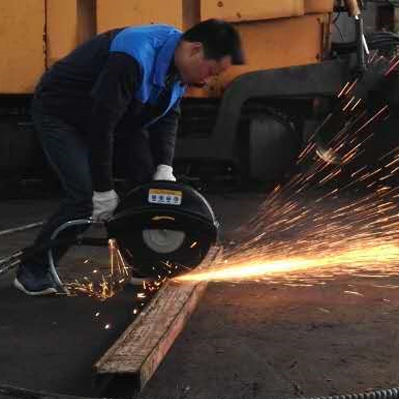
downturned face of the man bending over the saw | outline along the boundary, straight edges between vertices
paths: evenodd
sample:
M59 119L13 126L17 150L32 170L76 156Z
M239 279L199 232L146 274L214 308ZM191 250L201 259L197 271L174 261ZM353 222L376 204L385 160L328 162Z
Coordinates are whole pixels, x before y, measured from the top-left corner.
M209 78L228 69L231 66L231 57L226 55L219 60L207 59L202 43L183 42L175 63L184 83L202 86Z

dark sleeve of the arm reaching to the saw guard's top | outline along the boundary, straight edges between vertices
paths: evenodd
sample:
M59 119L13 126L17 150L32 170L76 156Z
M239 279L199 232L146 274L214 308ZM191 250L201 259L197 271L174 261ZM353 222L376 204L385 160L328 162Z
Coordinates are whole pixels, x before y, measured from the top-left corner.
M176 105L164 117L148 128L154 166L172 165L180 119L180 106Z

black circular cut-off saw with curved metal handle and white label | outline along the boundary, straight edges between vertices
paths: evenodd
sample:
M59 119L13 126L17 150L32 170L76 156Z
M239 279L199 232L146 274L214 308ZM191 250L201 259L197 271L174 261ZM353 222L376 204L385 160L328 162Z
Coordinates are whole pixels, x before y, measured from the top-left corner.
M157 181L139 186L120 203L107 222L92 219L70 220L58 229L46 247L25 248L0 261L0 275L17 266L21 259L47 250L51 272L62 287L53 259L53 249L70 238L63 233L77 227L101 224L106 238L77 236L73 244L108 246L116 239L124 260L139 275L163 279L198 266L216 243L218 222L209 203L191 187Z

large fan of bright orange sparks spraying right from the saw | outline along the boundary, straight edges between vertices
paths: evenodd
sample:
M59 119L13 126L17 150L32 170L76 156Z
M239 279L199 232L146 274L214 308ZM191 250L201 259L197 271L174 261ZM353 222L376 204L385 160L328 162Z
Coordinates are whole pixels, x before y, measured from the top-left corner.
M392 70L398 61L393 60ZM344 85L337 96L338 114L330 112L311 135L297 162L301 172L266 197L224 259L176 281L308 286L324 285L343 274L384 278L399 273L399 188L390 183L399 177L399 146L374 163L355 164L376 136L378 124L390 115L390 106L380 104L373 110L365 99L356 100L356 84ZM316 134L334 125L338 133L330 134L326 148L331 155L338 154L337 164L315 157ZM341 176L350 179L344 186L337 184ZM355 290L345 293L364 295Z

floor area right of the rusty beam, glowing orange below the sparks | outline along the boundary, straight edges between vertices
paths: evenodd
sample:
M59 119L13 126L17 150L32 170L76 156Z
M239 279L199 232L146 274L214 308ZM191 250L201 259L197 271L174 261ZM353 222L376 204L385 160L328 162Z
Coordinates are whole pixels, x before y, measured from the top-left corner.
M344 294L354 285L366 296ZM292 398L398 386L398 318L398 289L372 281L213 283L140 398Z

